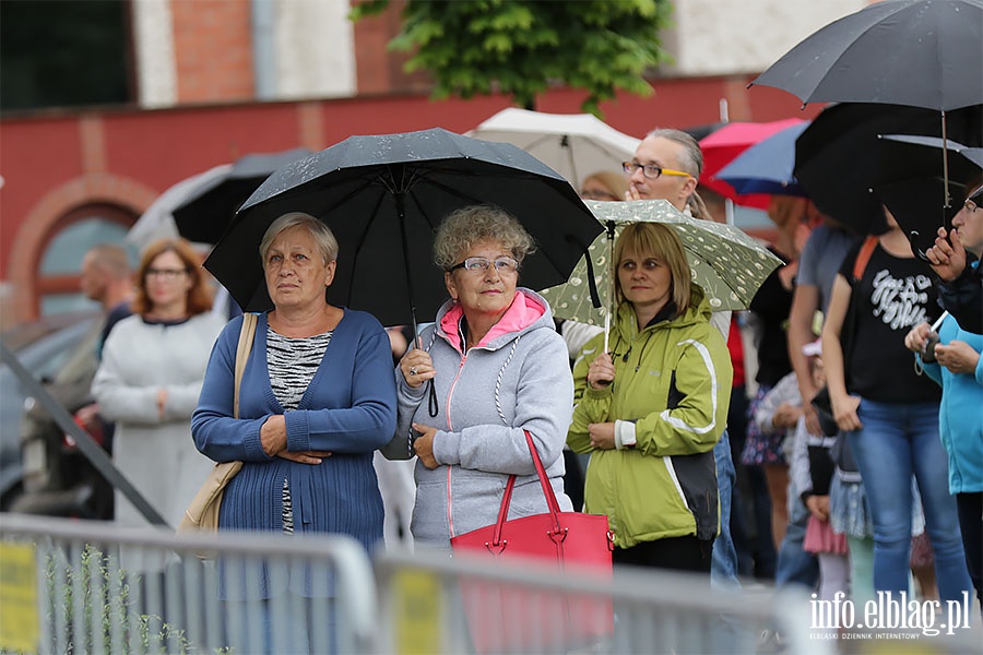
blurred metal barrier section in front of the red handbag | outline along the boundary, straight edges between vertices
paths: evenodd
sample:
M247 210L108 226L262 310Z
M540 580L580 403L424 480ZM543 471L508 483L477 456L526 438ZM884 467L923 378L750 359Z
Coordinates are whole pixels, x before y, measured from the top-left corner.
M796 590L724 593L706 576L633 568L557 575L419 549L380 555L376 576L386 653L834 652L805 628L809 598Z

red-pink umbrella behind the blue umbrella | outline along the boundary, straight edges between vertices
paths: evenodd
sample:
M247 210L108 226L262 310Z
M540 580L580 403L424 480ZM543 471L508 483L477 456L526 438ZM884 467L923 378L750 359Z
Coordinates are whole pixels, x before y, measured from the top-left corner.
M703 151L703 171L700 174L700 186L711 189L724 198L730 198L744 206L767 209L771 199L770 195L762 193L738 195L731 184L714 176L750 146L777 132L802 122L803 119L801 118L787 118L771 122L735 121L729 122L704 136L700 141L700 148Z

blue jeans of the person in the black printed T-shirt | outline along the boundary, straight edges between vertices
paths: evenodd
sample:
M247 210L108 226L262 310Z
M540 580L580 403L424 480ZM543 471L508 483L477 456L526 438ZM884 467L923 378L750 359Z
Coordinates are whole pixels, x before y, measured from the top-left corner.
M862 400L863 428L848 434L864 478L874 522L874 587L896 598L908 591L911 556L911 476L919 483L925 528L935 550L938 595L972 595L959 534L956 499L949 496L948 460L938 437L938 403Z

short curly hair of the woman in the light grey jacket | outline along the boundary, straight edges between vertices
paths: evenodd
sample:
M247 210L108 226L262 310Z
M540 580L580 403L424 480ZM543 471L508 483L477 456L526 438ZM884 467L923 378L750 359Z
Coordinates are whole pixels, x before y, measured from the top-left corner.
M451 212L437 228L434 262L449 271L478 241L498 241L520 264L535 252L535 242L514 216L494 205L471 205Z

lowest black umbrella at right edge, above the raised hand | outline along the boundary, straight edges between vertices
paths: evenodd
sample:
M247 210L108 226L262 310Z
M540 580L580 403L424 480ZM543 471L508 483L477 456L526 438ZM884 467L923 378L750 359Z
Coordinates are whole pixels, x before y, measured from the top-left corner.
M878 181L874 193L891 211L920 255L935 242L941 225L950 225L959 206L943 210L937 199L946 191L951 198L963 198L966 186L983 170L983 147L967 147L946 142L949 151L949 187L945 188L938 151L941 139L888 134L881 136Z

